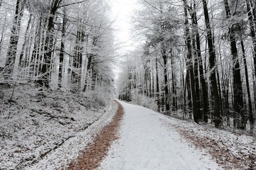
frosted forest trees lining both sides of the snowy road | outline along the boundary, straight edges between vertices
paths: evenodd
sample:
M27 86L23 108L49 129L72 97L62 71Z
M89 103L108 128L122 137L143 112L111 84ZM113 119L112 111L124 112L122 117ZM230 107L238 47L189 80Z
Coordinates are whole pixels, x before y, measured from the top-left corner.
M140 47L119 68L118 96L196 123L253 130L252 0L140 0ZM1 88L38 84L113 95L116 49L108 1L0 1Z

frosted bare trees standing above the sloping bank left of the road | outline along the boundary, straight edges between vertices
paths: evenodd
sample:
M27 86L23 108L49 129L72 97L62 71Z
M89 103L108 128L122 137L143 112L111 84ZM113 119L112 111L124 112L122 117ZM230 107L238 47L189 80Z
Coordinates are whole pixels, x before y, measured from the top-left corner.
M10 11L13 5L1 1L1 76L8 78L0 81L113 92L113 21L107 1L17 0Z

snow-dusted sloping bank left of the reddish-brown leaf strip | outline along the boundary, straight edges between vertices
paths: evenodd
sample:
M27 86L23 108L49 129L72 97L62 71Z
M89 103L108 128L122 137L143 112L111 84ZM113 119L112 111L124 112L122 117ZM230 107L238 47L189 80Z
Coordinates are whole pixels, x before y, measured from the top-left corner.
M117 109L113 102L99 106L94 94L27 85L2 89L0 100L0 169L67 168Z

